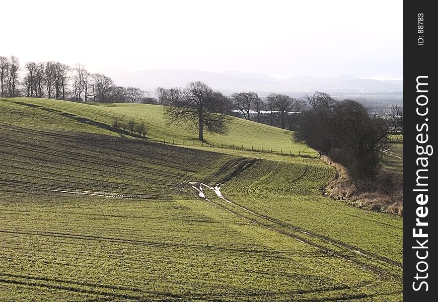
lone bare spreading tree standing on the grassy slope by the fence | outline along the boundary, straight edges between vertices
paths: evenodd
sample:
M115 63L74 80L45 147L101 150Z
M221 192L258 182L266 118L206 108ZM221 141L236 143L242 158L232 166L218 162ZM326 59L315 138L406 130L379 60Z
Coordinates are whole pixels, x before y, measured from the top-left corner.
M179 90L179 93L176 93ZM227 98L220 92L214 92L202 82L191 82L184 90L174 89L172 99L166 99L168 106L165 115L170 123L191 125L197 129L198 139L204 141L204 130L210 133L224 134L231 117Z

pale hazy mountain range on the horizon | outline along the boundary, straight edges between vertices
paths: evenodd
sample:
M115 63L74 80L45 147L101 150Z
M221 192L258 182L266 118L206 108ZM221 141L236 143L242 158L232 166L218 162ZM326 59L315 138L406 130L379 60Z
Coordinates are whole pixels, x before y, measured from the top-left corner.
M188 69L152 69L113 75L117 85L153 90L157 87L184 87L193 81L202 81L224 93L255 91L258 93L287 92L401 92L403 81L359 79L343 74L335 78L315 78L298 75L289 79L276 79L263 73L235 70L209 72Z

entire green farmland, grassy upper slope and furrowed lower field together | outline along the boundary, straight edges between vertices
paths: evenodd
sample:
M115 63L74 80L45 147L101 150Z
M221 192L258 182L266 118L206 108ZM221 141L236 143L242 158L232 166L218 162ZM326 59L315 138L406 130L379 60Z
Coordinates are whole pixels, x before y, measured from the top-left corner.
M402 300L402 218L322 195L331 166L132 139L117 112L196 136L160 106L0 100L0 300ZM304 149L231 130L207 139Z

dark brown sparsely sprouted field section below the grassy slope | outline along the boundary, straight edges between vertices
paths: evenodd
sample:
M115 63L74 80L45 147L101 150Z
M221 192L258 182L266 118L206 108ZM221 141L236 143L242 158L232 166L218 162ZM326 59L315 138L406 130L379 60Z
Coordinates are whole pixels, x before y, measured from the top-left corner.
M226 157L132 139L48 133L5 124L0 124L0 131L0 182L18 191L70 188L160 198L169 196L179 182L208 173L204 168Z

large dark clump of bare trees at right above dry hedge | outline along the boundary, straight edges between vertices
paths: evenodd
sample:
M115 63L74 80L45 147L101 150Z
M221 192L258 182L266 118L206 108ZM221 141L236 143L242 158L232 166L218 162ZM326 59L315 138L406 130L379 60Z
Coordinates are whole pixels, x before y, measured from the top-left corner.
M306 100L309 106L297 118L295 137L344 165L356 185L374 179L384 152L403 135L403 108L391 106L382 116L326 93L306 95Z

